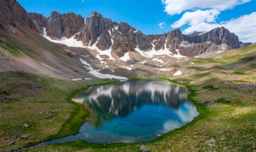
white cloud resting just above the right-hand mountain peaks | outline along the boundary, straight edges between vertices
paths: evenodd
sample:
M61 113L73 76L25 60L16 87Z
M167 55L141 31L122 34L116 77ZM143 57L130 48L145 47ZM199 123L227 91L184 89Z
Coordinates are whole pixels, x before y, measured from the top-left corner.
M193 19L191 19L191 21L188 22L190 27L183 30L183 33L190 33L193 31L209 31L216 27L224 26L227 29L229 29L230 32L233 32L236 35L238 35L240 41L254 43L256 42L255 18L256 18L256 12L253 12L249 15L240 16L239 18L233 18L230 21L223 21L219 24L215 22L211 23L211 22L204 22L204 21L198 23L197 21L192 21ZM179 25L175 24L175 26L179 26Z

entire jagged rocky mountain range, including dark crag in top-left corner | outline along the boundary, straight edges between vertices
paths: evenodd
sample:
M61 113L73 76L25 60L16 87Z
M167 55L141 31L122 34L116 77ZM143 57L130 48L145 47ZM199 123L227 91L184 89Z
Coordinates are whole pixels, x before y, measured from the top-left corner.
M161 54L195 57L240 47L238 36L224 27L188 35L183 35L180 29L145 35L126 22L113 22L98 12L91 13L87 19L75 13L59 12L52 12L49 18L45 18L38 13L27 13L15 0L1 0L0 15L1 26L9 32L13 32L12 26L24 27L49 36L50 41L80 41L80 47L105 51L106 58L111 58L107 56L112 54L124 57L127 52L138 52L149 58Z

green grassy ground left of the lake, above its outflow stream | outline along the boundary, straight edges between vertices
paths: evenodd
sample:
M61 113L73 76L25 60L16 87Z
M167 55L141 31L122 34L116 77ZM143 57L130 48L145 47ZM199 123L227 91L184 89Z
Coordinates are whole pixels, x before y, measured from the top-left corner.
M71 101L73 95L93 85L116 82L71 81L25 72L0 72L0 81L0 95L4 95L8 100L0 103L0 122L4 121L0 123L0 138L7 138L0 140L0 151L16 150L57 137L76 134L89 113L82 105ZM49 111L55 111L55 116L44 117ZM29 124L30 127L23 128L24 123ZM30 134L29 138L20 140L19 137L24 134ZM10 140L16 143L7 146Z

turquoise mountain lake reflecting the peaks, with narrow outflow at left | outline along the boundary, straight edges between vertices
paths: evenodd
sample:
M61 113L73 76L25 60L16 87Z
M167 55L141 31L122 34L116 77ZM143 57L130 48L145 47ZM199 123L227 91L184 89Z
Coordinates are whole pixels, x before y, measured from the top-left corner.
M91 143L146 142L198 116L185 86L165 80L129 80L94 86L73 97L90 111L78 134L44 144L82 139Z

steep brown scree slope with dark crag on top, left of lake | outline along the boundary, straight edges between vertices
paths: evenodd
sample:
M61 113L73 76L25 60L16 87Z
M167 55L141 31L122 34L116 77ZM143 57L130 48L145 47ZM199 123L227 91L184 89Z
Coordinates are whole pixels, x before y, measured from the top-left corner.
M15 0L0 0L0 72L95 78L84 69L77 55L43 38L42 26L48 22L43 15L27 13Z

